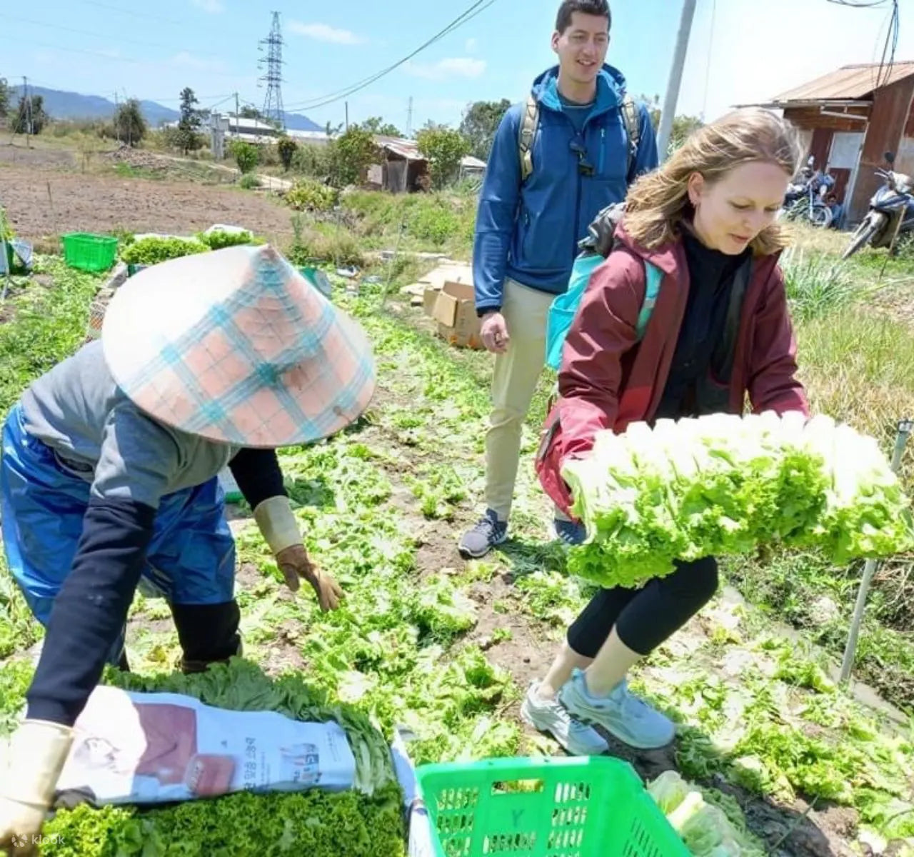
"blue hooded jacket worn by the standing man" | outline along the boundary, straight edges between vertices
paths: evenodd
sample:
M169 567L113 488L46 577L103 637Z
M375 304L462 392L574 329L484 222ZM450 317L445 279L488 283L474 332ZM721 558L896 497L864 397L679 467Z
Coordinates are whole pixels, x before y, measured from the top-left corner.
M566 291L578 241L601 209L622 202L630 181L657 166L657 143L647 108L638 106L641 136L628 169L628 135L622 116L625 79L604 65L597 76L593 110L582 132L562 112L558 66L533 85L539 102L537 133L531 145L533 172L521 183L518 136L525 105L502 118L489 155L476 214L473 284L476 310L500 309L505 277L532 289ZM577 143L594 168L580 175Z

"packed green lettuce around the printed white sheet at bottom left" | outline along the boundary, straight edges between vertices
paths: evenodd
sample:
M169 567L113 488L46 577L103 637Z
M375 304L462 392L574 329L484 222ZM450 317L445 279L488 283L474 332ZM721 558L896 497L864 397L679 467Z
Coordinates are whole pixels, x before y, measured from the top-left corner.
M356 756L356 787L337 793L239 792L167 809L84 805L60 810L42 831L45 857L403 857L402 791L389 747L356 709L328 704L293 674L271 680L250 662L237 659L198 675L110 671L106 680L124 690L186 693L239 711L277 711L314 722L334 719L345 729Z

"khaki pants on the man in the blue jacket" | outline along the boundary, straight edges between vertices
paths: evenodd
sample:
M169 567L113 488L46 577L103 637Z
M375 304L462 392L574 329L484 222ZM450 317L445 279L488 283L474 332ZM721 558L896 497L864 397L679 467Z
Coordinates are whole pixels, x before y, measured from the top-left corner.
M505 280L502 314L510 341L495 354L492 416L485 436L485 503L507 521L514 500L521 428L546 365L546 319L554 294Z

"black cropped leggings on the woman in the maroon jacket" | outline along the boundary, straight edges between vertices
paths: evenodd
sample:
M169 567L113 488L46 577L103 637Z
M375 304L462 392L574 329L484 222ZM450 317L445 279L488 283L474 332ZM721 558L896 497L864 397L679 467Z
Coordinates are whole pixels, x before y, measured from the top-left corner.
M619 639L641 655L669 639L717 592L713 556L675 566L673 574L654 577L641 589L600 589L569 628L572 651L595 658L613 626Z

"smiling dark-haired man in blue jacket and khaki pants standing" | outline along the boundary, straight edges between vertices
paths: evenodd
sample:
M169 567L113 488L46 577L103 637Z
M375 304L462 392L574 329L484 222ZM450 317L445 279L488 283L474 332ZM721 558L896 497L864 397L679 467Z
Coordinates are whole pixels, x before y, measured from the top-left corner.
M657 165L650 116L604 65L607 0L564 0L552 49L558 67L535 81L526 104L505 113L495 134L476 217L473 283L485 347L495 354L493 411L485 439L483 518L463 534L464 557L486 555L507 537L521 427L545 365L549 305L566 291L577 244L635 177ZM559 515L556 531L578 528Z

